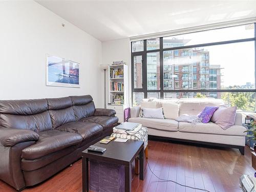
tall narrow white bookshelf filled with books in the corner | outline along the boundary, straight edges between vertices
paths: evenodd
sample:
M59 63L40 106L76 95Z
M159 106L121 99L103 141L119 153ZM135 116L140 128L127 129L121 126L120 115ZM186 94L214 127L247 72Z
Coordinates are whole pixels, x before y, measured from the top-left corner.
M108 109L116 111L119 122L123 122L123 110L128 101L128 66L124 64L109 66L109 103Z

